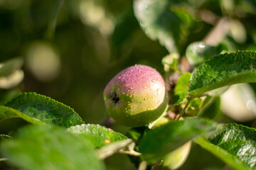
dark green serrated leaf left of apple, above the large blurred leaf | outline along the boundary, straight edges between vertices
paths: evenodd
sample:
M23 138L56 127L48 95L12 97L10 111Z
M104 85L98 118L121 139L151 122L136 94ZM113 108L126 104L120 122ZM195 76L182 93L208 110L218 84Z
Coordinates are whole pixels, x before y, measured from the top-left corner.
M47 124L70 127L83 123L78 113L69 106L36 93L21 94L6 106Z

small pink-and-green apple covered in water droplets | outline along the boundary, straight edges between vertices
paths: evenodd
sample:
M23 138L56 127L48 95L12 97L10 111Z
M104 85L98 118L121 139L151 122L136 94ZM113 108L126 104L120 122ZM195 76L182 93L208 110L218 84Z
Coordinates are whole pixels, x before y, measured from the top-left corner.
M110 116L123 125L147 125L164 113L168 105L161 74L146 65L119 72L105 87L105 106Z

